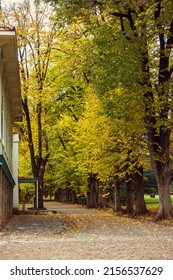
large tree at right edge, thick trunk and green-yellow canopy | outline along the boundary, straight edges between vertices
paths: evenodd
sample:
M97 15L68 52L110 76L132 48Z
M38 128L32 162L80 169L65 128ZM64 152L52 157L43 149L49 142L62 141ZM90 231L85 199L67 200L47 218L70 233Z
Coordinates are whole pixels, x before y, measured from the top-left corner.
M95 46L91 82L98 96L108 100L111 90L116 92L120 86L129 99L131 93L137 102L128 117L141 103L160 197L156 219L171 218L172 1L52 2L58 4L58 15L63 11L64 24L78 22L86 26Z

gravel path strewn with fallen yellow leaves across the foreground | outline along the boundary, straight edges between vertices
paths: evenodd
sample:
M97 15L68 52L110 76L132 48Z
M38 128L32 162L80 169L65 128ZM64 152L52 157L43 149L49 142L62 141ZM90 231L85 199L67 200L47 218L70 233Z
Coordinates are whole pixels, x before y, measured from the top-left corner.
M172 260L173 226L47 202L56 214L15 215L0 232L1 260Z

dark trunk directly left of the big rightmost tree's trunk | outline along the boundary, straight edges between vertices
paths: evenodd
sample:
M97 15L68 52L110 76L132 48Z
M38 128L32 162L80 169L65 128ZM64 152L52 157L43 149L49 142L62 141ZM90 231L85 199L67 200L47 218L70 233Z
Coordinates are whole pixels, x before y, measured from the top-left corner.
M135 186L135 214L141 215L148 212L144 200L143 168L138 168L133 176Z

